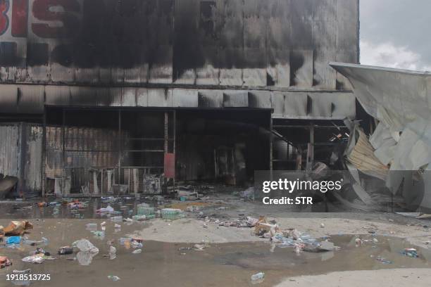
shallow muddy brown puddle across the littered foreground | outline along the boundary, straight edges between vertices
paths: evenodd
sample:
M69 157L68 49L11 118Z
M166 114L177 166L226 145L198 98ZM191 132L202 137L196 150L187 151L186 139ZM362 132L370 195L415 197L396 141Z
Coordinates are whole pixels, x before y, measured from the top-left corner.
M32 286L251 286L250 276L265 272L266 277L258 286L273 286L287 276L326 274L327 272L387 269L387 268L429 268L430 250L417 248L420 257L401 255L401 250L412 247L406 241L387 236L361 236L368 242L355 245L356 236L332 236L329 240L341 249L326 253L301 253L293 248L279 248L268 242L211 244L204 250L180 250L192 247L185 243L161 243L144 241L142 253L132 254L133 249L120 245L118 239L125 234L144 228L144 223L121 224L121 231L115 232L113 222L108 222L105 238L96 238L85 229L89 222L100 223L101 219L45 219L33 221L35 228L30 239L49 238L46 251L58 257L42 264L29 264L21 259L34 246L24 245L20 249L0 248L0 255L13 260L13 266L0 270L0 286L5 285L6 274L13 269L31 268L33 274L51 274L49 282L34 282ZM6 219L0 220L5 225ZM67 258L76 255L56 255L56 250L80 238L88 238L100 252L89 266L81 266L77 260ZM377 239L377 243L372 241ZM106 241L113 240L117 258L109 260ZM392 264L377 260L383 257ZM120 281L110 281L107 276L115 275ZM12 286L12 284L9 284Z

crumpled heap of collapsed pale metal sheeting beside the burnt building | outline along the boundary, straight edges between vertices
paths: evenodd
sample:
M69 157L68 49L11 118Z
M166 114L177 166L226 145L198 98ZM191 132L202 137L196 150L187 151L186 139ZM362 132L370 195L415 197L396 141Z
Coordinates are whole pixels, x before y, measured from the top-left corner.
M330 65L349 78L359 103L375 119L369 139L362 135L351 141L361 150L361 158L351 157L352 147L349 160L358 170L385 181L412 210L431 210L430 72Z

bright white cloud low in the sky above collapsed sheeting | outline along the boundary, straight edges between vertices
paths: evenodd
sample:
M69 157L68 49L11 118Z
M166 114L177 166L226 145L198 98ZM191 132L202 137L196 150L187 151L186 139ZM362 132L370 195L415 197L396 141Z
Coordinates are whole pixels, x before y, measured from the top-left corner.
M361 40L361 64L406 70L431 71L430 66L424 65L420 54L409 50L405 46L395 46L389 42L373 44Z

